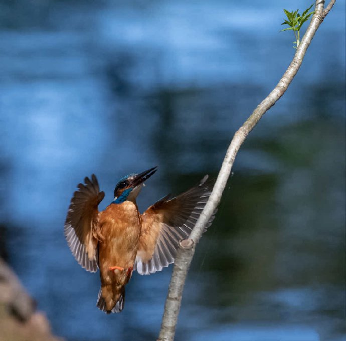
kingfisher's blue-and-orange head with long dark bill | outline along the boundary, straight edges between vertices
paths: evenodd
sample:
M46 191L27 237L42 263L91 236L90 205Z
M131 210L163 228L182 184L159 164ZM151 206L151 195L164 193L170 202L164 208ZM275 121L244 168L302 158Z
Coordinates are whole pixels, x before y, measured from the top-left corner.
M114 188L115 204L121 204L126 200L134 201L144 185L144 181L149 179L157 171L157 167L150 168L139 174L129 174L119 180Z

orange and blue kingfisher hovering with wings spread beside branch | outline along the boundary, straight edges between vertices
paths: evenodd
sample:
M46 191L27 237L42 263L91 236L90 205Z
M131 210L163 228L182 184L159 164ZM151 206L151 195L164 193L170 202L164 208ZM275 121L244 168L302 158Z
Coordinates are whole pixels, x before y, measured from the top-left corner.
M211 194L214 181L206 175L199 185L174 198L166 195L140 214L136 198L156 170L121 178L114 200L103 211L98 205L105 194L94 174L77 186L71 199L65 238L84 269L100 270L97 307L107 314L124 308L125 285L133 270L148 275L174 263L179 242L189 237Z

